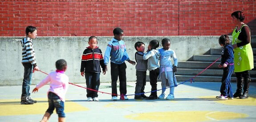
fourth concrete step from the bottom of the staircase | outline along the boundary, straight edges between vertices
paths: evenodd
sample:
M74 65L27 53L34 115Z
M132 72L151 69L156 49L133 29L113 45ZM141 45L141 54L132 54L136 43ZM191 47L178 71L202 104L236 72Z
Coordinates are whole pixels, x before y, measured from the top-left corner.
M195 55L193 56L193 61L215 61L220 57L220 55ZM220 61L219 59L218 61ZM256 56L253 56L253 61L256 63Z

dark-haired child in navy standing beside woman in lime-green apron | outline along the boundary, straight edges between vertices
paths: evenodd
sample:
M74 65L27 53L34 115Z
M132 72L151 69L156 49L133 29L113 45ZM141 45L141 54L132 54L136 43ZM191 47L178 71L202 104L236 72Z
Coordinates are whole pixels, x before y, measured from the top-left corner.
M233 47L229 44L228 35L224 34L219 37L219 45L223 46L221 62L218 65L219 68L223 67L223 76L221 79L220 95L216 96L216 98L233 99L230 77L234 70L234 51Z

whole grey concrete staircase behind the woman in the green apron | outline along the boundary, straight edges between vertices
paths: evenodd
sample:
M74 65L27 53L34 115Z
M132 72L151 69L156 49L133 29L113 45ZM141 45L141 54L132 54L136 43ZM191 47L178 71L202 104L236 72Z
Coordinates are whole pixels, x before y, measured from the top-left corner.
M250 71L251 81L256 82L256 42L251 42L253 50L253 59L254 59L254 69ZM204 55L195 55L191 60L188 61L179 61L178 69L175 73L175 76L178 81L186 81L191 79L193 76L197 75L203 69L207 68L220 57L222 48L212 48ZM199 76L194 78L195 81L211 81L211 82L221 82L223 70L218 68L220 59L211 65L210 68L205 70ZM236 82L236 76L233 72L231 77L232 82Z

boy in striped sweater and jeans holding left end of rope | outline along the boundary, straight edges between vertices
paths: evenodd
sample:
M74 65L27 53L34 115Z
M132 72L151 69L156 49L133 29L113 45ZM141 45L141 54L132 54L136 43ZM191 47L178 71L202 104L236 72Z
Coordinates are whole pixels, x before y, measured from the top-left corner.
M32 39L37 38L37 28L33 26L26 27L26 37L21 42L22 46L22 65L24 66L24 78L22 83L22 93L20 104L34 104L36 100L30 98L30 84L32 82L33 70L38 71L35 51Z

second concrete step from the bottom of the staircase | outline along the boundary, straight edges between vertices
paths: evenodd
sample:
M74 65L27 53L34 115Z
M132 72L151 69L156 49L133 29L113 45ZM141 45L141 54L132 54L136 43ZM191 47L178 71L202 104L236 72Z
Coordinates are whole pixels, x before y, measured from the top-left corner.
M188 76L195 76L202 72L203 69L177 69L175 75L188 75ZM199 76L222 76L223 70L220 69L207 69L203 71ZM250 71L250 75L256 77L256 71ZM232 76L236 76L235 72L232 73Z

